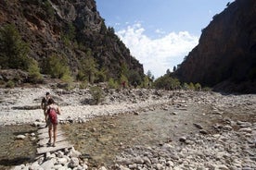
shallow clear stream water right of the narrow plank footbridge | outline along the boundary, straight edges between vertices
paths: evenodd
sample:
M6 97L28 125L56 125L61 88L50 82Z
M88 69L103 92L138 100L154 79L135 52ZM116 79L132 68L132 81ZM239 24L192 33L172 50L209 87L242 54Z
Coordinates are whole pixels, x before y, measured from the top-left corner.
M187 118L194 119L193 112L151 111L139 115L98 117L85 124L63 125L76 150L89 158L90 165L110 166L122 149L135 145L154 146L178 140L193 130ZM192 120L193 121L193 120Z

